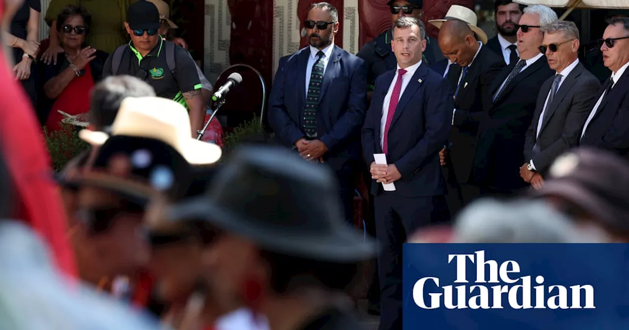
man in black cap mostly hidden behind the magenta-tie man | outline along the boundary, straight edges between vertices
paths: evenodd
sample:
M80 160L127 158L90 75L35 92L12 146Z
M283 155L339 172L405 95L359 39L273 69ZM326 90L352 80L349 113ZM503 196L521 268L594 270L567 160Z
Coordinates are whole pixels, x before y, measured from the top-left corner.
M387 3L387 6L391 9L391 23L404 16L413 16L421 19L423 0L391 0ZM367 98L369 100L371 99L371 93L374 91L376 77L395 69L398 63L391 51L391 31L393 31L392 28L382 32L381 35L360 48L360 51L356 54L367 62L367 83L369 84ZM433 65L438 60L442 60L443 55L436 38L426 36L426 39L428 41L426 42L423 60L428 65Z

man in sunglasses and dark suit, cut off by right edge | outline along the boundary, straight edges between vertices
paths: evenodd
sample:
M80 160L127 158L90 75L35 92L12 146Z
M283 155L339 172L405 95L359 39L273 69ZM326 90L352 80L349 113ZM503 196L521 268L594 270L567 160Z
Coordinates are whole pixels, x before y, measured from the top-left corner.
M581 132L581 145L629 156L629 18L615 18L603 33L603 62L612 74Z

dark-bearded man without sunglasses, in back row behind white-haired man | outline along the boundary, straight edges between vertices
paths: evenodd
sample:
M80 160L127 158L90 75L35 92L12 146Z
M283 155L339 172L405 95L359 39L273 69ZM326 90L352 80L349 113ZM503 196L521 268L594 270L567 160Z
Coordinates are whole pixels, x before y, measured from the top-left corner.
M487 47L503 58L506 65L512 65L520 59L516 33L518 23L525 6L513 0L496 0L494 14L498 34L487 41Z

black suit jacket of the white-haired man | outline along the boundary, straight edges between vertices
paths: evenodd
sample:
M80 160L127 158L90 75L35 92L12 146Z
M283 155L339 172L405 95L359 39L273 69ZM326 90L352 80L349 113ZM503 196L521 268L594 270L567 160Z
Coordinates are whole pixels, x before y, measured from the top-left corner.
M509 65L496 77L490 89L492 96L515 65ZM524 163L526 130L535 113L540 86L554 73L542 56L504 86L479 126L472 169L474 183L503 192L525 187L518 169Z

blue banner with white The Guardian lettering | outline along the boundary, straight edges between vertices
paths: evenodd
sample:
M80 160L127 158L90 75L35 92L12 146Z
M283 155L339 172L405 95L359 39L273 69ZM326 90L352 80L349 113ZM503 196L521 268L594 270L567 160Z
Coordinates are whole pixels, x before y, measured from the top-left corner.
M404 244L415 329L629 329L627 244Z

